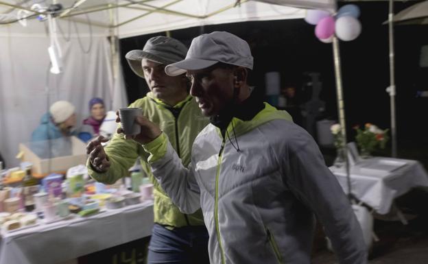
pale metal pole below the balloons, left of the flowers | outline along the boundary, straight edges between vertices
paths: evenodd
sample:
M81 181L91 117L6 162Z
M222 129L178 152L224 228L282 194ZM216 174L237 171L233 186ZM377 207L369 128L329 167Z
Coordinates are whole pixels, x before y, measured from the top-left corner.
M350 171L349 171L349 160L348 160L348 145L346 145L346 122L345 122L345 103L343 99L343 88L342 88L342 71L340 69L340 50L339 40L336 36L333 36L333 60L335 66L335 77L336 77L336 93L337 93L337 114L339 116L339 123L341 134L343 137L342 147L345 153L345 169L346 169L346 180L348 183L348 197L349 200L353 200L352 191L350 189Z

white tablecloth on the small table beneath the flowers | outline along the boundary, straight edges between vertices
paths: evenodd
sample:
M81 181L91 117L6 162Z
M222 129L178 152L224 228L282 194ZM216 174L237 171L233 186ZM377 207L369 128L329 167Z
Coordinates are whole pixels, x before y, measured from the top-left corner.
M359 166L350 169L350 188L353 195L371 206L379 214L386 214L395 197L407 193L414 187L428 187L428 175L417 160L398 158L372 158L370 161L387 160L392 163L405 163L393 171L367 169ZM348 193L348 182L344 167L330 167L342 189Z

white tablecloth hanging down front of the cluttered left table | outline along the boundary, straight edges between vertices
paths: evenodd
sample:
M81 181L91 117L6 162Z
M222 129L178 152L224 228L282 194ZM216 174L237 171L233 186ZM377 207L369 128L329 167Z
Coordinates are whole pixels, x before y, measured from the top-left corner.
M0 264L55 264L150 236L151 201L3 235Z

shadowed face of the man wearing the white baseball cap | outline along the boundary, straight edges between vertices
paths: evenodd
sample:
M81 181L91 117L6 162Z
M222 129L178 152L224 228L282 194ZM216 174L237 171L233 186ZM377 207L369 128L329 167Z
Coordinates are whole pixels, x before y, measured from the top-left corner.
M195 97L202 114L207 117L218 115L233 99L233 69L214 65L202 70L187 71L187 77L192 83L190 94Z

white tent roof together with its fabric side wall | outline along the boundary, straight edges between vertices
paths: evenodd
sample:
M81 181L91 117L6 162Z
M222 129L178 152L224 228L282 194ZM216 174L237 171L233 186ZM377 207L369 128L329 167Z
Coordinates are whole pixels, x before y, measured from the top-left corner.
M53 2L62 4L53 19L64 64L58 75L49 72L47 48L53 41L43 21L49 13L46 9L55 7ZM335 8L335 0L275 2ZM14 158L19 143L29 141L54 101L71 101L78 123L89 115L92 97L102 97L108 109L126 105L117 53L111 52L115 41L108 41L108 36L126 38L200 25L305 16L300 8L245 0L235 4L235 0L0 0L0 152L8 167L19 164Z

